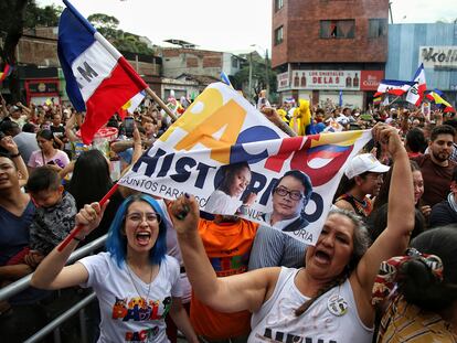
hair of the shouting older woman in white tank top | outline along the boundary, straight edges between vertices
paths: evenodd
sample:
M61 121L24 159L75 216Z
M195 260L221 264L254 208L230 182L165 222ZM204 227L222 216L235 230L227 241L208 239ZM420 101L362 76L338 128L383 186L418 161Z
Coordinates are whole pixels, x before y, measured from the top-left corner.
M366 231L366 227L362 218L359 215L357 215L355 213L351 211L341 210L341 208L331 210L329 212L329 216L332 214L344 215L354 225L354 234L352 237L353 250L352 250L351 259L349 260L348 265L344 266L344 269L341 271L341 274L338 277L336 277L333 280L325 285L321 289L319 289L316 297L312 297L311 299L305 301L298 309L295 310L296 317L304 314L311 307L311 304L316 302L316 300L318 300L321 296L327 293L329 290L344 283L344 281L350 277L351 272L355 269L363 254L365 254L366 249L370 246L369 233Z

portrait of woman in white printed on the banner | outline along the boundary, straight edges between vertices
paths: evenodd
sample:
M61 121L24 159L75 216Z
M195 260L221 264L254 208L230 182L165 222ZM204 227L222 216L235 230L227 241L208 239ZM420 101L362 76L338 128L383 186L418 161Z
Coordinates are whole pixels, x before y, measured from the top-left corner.
M219 173L222 175L220 185L211 193L205 212L213 214L242 214L251 206L256 193L248 193L242 199L251 183L251 169L247 162L223 165Z

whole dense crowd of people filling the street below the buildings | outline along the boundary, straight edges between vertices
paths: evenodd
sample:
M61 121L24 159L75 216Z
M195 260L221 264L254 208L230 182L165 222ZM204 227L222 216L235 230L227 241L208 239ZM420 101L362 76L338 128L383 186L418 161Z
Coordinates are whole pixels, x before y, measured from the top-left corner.
M256 197L241 199L247 163L221 169L209 201L220 215L200 212L189 194L167 201L123 186L100 206L169 117L142 106L130 130L115 115L110 136L84 146L84 115L71 106L1 99L1 287L33 272L31 288L0 302L9 341L52 318L50 290L70 288L77 298L91 288L98 342L177 342L178 332L189 342L457 342L455 114L275 106L265 96L258 110L289 136L372 130L316 246L281 233L308 225L312 184L298 170L272 189L265 225L237 216ZM105 248L66 265L105 234Z

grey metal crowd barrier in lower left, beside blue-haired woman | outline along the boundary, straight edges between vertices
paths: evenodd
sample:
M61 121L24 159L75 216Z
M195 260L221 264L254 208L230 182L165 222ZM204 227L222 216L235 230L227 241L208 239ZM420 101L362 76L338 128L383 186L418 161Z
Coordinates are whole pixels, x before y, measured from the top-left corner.
M86 244L85 246L81 247L79 249L73 251L73 254L70 256L66 264L67 265L72 264L75 260L78 260L82 257L89 255L95 249L102 247L105 244L105 240L106 240L107 236L108 235L106 234L106 235L95 239L94 242L91 242L91 243ZM32 275L33 274L28 275L28 276L23 277L22 279L13 282L11 285L8 285L7 287L4 287L2 289L0 289L0 301L1 300L8 300L9 298L20 293L21 291L23 291L28 287L30 287L30 280L32 279ZM63 322L65 322L66 320L72 318L74 314L79 312L79 326L81 326L81 332L82 332L81 342L86 343L87 342L87 335L86 335L85 322L84 322L84 319L85 319L84 308L87 304L89 304L91 301L93 301L95 298L96 298L95 293L94 292L91 293L89 296L87 296L86 298L81 300L78 303L76 303L72 308L70 308L67 311L65 311L64 313L62 313L61 315L55 318L46 326L39 330L35 334L33 334L31 337L29 337L25 342L28 342L28 343L39 342L40 340L44 339L51 332L54 332L54 342L59 343L61 341L60 340L59 326Z

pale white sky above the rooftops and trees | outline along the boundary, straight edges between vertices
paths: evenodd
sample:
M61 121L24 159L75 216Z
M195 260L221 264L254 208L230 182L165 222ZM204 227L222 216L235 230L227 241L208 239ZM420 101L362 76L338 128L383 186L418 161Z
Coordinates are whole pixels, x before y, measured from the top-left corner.
M39 6L63 6L59 0L35 1ZM457 0L391 2L394 23L457 19ZM93 13L114 15L120 22L119 29L145 35L156 45L178 39L199 49L234 53L256 50L262 55L272 45L272 0L72 0L72 3L86 18Z

